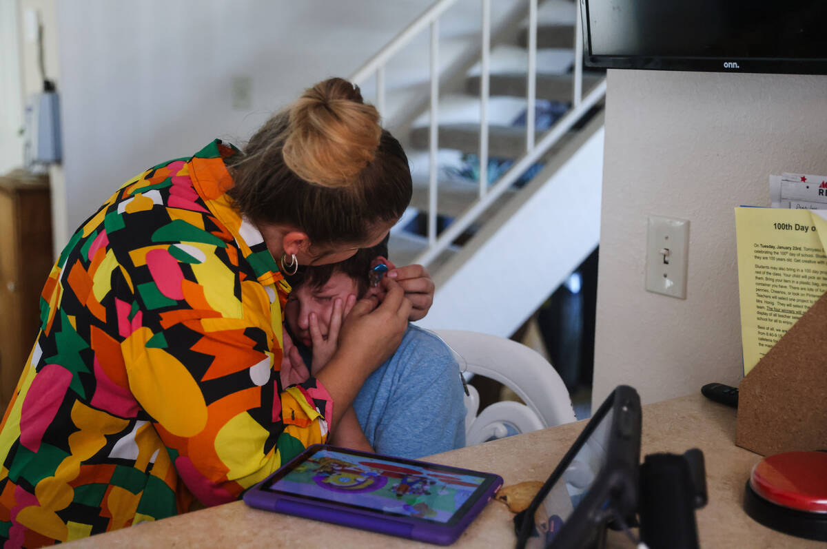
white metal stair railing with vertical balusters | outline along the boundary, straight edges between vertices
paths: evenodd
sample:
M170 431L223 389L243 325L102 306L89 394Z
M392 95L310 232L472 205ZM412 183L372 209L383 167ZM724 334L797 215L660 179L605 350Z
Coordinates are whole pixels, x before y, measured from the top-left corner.
M516 0L525 2L525 0ZM428 265L437 258L442 251L451 246L457 236L466 231L473 222L500 197L514 182L519 179L528 168L540 159L557 141L560 141L566 132L571 130L581 117L605 97L605 79L590 91L586 98L582 97L583 78L583 45L580 2L577 6L576 32L573 49L575 64L572 86L571 110L560 118L539 141L535 142L535 106L537 102L537 26L538 0L528 0L528 69L526 82L526 153L495 184L488 185L488 102L490 98L490 37L491 15L490 0L480 0L481 36L480 45L480 192L471 207L457 217L449 227L437 238L437 150L439 146L439 19L457 0L437 0L431 7L412 22L404 31L400 32L384 48L377 52L361 69L351 75L354 84L362 85L371 76L375 75L376 108L380 114L385 111L385 65L401 50L404 45L418 36L426 27L430 29L430 116L428 135L430 137L428 154L428 248L415 260L416 263Z

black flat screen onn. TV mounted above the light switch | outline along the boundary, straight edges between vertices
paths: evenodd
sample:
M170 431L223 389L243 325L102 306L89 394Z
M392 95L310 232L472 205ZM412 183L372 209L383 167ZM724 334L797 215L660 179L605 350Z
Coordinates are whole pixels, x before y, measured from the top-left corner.
M827 0L580 0L586 66L827 74Z

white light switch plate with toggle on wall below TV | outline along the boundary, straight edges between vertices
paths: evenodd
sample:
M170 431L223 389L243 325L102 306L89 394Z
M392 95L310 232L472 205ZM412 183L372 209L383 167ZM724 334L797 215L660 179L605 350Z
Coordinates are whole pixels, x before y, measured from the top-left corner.
M646 239L646 289L686 299L686 260L689 256L689 222L686 219L649 216Z

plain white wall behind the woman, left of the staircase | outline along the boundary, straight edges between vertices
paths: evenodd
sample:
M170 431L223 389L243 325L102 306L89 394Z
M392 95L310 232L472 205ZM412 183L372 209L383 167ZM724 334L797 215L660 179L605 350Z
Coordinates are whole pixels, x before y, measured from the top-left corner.
M67 218L55 246L132 175L215 137L244 141L304 88L358 69L432 3L57 2ZM467 36L479 0L455 9L442 37ZM427 35L390 72L416 55L427 64ZM232 109L235 76L252 78L251 109Z

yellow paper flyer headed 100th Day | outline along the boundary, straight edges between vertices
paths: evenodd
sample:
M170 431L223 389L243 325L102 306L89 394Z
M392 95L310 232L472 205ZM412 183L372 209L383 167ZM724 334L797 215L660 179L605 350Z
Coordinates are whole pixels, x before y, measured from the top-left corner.
M744 375L827 292L824 216L735 208Z

